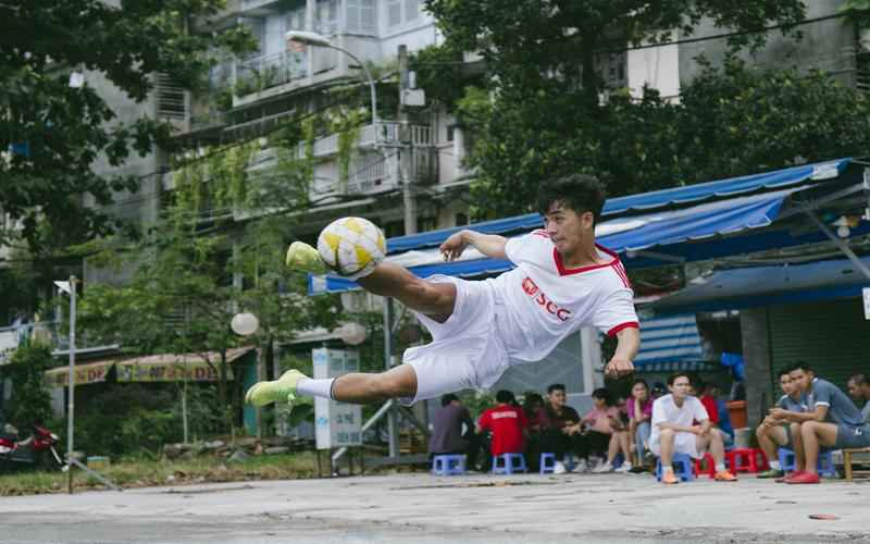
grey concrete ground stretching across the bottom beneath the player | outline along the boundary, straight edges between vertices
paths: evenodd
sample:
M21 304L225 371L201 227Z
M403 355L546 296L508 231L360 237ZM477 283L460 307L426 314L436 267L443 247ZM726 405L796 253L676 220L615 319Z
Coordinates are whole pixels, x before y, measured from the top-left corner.
M1 497L0 542L870 543L868 515L870 482L405 473Z

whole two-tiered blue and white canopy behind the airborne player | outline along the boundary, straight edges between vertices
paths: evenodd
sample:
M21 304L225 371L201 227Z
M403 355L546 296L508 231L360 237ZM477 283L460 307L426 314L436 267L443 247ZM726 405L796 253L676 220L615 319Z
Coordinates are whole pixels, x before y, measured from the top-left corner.
M626 268L661 264L669 260L695 261L724 255L759 251L824 239L812 233L765 228L772 225L796 194L819 187L838 188L837 178L850 159L717 182L613 198L606 202L604 221L596 227L601 245L621 254ZM510 270L510 261L489 259L467 250L460 260L444 262L438 246L462 228L487 234L520 236L540 227L537 213L398 236L387 240L387 260L407 267L420 277L433 274L471 277ZM861 225L854 234L870 232ZM309 276L309 293L340 293L358 288L355 282L333 275Z

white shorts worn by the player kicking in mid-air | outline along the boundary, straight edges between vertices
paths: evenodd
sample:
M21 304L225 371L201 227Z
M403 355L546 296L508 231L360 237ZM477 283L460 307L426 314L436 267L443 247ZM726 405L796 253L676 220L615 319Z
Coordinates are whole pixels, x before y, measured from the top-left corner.
M446 275L426 279L456 285L453 313L444 323L419 312L432 343L405 350L402 362L417 373L417 395L402 398L412 405L460 390L495 384L508 368L508 353L498 335L496 301L489 282L469 282Z

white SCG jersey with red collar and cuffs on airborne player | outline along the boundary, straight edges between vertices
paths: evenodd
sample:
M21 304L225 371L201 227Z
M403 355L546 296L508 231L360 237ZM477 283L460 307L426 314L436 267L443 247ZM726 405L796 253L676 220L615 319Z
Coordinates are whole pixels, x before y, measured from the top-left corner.
M504 305L499 333L511 358L538 361L585 326L609 335L638 326L622 262L597 247L606 264L569 269L546 231L508 240L505 252L517 268L487 281Z

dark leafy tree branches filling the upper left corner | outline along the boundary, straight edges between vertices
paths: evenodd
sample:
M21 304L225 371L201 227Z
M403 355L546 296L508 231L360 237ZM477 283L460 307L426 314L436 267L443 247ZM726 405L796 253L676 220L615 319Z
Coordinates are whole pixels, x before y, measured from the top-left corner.
M117 122L97 89L70 86L76 70L101 73L142 102L163 73L186 88L201 86L208 51L250 47L241 27L213 38L188 32L216 15L223 0L102 0L0 3L0 210L20 223L35 252L112 232L116 221L95 207L117 190L136 190L134 176L100 176L95 160L122 164L132 152L171 147L159 120ZM11 150L11 152L5 152ZM17 231L0 231L8 245Z

